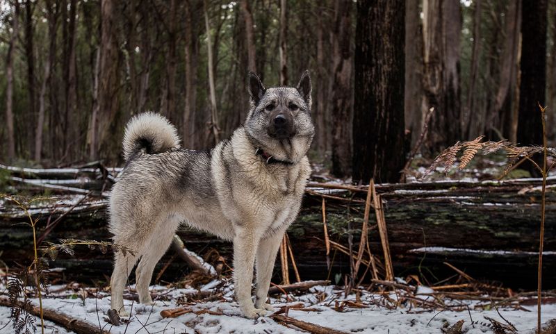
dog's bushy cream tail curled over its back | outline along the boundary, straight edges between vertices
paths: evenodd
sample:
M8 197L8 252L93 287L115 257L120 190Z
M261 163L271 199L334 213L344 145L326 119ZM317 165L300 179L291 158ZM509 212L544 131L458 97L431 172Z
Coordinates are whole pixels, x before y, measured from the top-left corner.
M179 147L175 126L155 112L133 116L124 133L124 158L128 161L139 152L155 154Z

